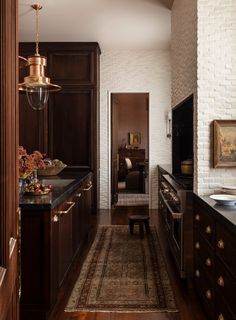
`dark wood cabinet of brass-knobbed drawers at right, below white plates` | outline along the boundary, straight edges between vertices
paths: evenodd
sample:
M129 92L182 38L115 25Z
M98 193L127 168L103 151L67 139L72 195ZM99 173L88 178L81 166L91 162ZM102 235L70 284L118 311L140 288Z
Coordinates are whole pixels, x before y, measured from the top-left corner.
M235 226L194 197L194 284L208 319L236 319L235 235Z

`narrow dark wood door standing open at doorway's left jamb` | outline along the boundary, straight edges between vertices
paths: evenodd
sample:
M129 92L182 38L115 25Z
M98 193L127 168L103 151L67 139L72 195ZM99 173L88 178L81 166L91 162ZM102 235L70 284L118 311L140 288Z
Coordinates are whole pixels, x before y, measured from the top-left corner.
M118 103L111 95L111 203L118 201Z

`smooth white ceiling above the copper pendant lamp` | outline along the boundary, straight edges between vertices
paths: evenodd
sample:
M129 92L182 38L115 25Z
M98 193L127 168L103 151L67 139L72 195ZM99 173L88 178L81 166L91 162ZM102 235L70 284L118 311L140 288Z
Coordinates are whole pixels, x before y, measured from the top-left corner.
M102 50L156 49L170 44L167 0L19 0L19 39L35 41L39 3L39 41L95 41Z

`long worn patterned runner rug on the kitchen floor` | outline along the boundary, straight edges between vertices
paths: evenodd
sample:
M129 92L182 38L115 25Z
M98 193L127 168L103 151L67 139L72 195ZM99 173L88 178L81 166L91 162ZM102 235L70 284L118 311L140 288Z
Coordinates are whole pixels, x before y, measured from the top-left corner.
M65 311L177 312L155 228L99 227Z

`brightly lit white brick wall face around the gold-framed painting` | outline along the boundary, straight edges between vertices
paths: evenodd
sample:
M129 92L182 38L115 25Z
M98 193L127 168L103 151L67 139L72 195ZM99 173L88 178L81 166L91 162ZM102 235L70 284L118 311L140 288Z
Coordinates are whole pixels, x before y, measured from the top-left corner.
M235 168L213 168L212 121L236 119L236 1L198 0L199 194L236 185Z

